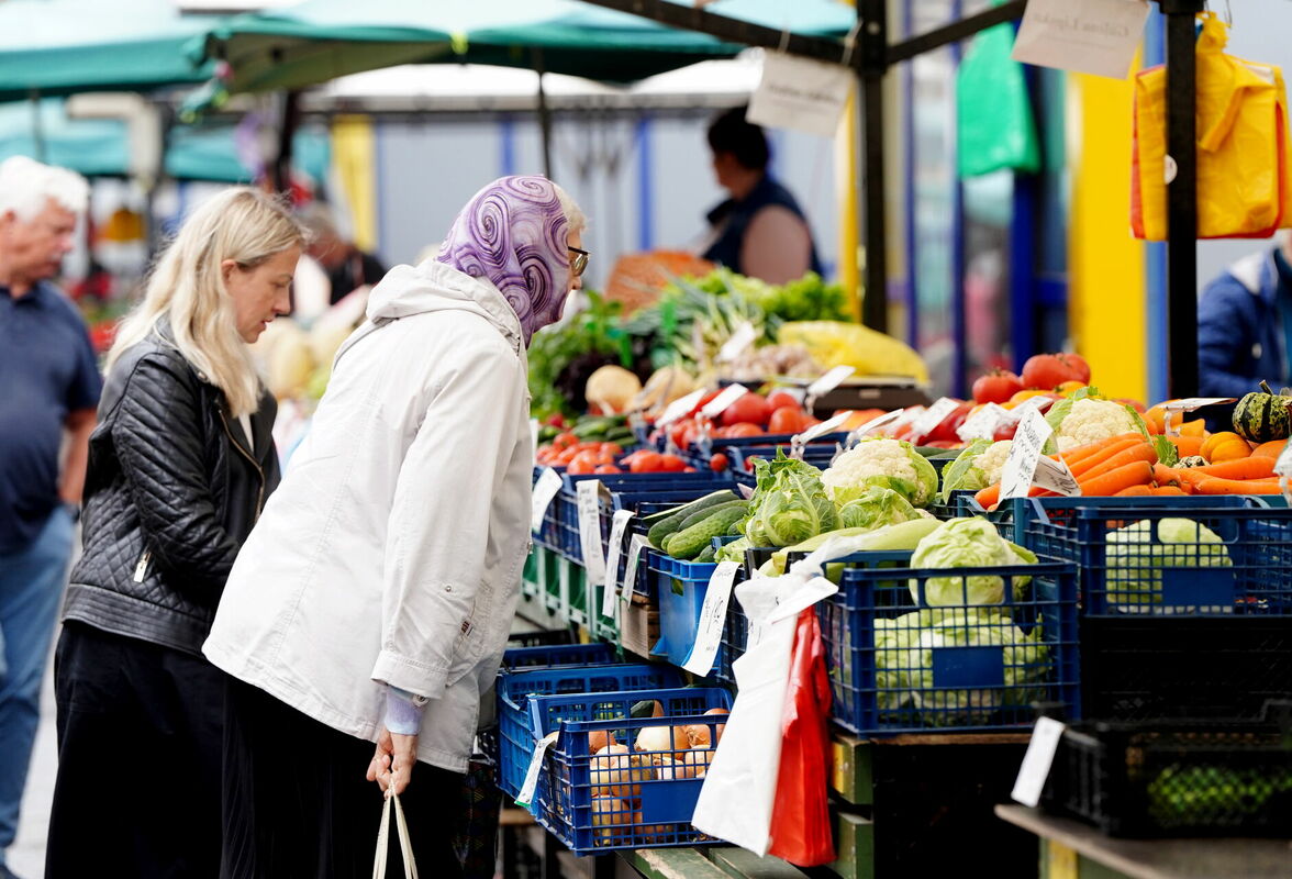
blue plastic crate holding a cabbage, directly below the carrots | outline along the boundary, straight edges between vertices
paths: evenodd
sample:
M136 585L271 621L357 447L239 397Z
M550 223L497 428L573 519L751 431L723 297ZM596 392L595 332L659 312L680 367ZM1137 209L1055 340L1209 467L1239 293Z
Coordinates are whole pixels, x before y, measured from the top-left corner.
M1080 569L1085 615L1292 614L1292 511L1256 498L1028 499L1014 508L1022 543ZM1183 518L1222 544L1160 540Z

